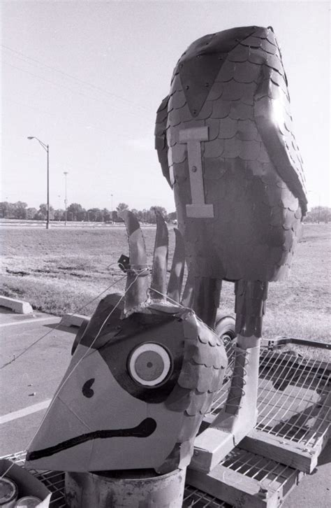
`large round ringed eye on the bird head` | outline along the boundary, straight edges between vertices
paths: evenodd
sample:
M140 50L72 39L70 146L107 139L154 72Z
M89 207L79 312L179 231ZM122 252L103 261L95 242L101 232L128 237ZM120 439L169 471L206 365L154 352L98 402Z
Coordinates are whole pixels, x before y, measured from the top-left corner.
M128 372L131 377L144 386L156 386L162 383L171 370L168 351L153 342L145 342L136 347L128 360Z

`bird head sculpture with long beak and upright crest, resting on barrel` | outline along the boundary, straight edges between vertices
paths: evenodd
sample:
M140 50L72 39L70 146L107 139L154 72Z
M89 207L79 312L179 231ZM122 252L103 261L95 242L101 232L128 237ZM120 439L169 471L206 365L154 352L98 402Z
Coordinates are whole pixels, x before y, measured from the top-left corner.
M182 306L184 242L177 230L166 292L168 229L157 214L152 282L138 220L124 212L130 247L124 295L98 304L76 341L27 467L74 472L189 464L193 441L227 365L223 344Z

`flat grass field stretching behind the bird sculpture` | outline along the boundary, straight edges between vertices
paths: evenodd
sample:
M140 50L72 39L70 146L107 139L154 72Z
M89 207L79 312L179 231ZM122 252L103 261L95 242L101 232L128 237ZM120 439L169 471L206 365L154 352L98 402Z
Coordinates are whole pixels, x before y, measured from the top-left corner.
M293 269L285 282L270 283L264 337L279 335L331 341L330 225L304 225ZM152 262L154 227L143 229ZM35 309L61 315L91 314L106 291L123 291L119 256L128 253L126 230L1 228L0 294L26 299ZM170 232L170 254L174 234ZM122 278L122 280L121 280ZM94 302L89 303L92 299ZM233 313L233 284L223 283L221 307Z

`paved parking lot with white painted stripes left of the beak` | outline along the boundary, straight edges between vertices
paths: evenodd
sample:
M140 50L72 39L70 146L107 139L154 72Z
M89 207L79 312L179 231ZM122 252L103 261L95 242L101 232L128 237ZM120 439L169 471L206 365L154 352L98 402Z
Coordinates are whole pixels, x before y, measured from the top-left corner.
M15 314L0 307L0 455L27 448L59 385L77 328L58 327L60 318L36 312Z

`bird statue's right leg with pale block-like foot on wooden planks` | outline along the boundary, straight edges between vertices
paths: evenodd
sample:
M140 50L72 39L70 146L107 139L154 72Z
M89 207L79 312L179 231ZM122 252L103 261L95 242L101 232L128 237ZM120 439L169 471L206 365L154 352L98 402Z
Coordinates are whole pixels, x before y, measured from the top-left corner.
M256 425L258 360L267 283L235 284L237 345L235 365L226 404L209 428L195 441L190 467L209 472Z

